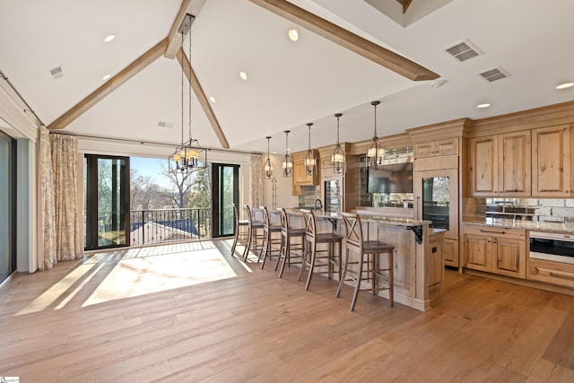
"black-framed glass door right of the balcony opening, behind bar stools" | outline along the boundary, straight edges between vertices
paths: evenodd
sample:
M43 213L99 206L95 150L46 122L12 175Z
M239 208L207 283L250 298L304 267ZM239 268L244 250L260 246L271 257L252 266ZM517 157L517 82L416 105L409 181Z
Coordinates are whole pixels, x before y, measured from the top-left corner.
M239 165L212 163L212 237L233 235L233 204L239 205Z

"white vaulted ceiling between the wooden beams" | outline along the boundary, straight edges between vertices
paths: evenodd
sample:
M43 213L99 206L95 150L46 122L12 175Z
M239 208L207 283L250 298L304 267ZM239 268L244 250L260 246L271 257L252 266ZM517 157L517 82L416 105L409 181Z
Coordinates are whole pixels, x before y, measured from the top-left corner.
M373 2L374 0L370 0ZM387 0L401 5L396 0ZM417 3L427 0L413 0ZM370 138L371 100L378 135L455 118L484 118L574 100L574 2L571 0L453 0L431 14L399 25L363 0L292 0L309 12L390 48L447 81L412 82L248 0L206 0L191 29L191 65L231 149L284 152L335 141ZM50 122L96 90L104 74L117 74L164 39L181 0L3 0L0 71L42 122ZM413 11L414 12L414 11ZM117 38L104 43L114 33ZM483 51L459 63L443 52L463 39ZM187 41L185 43L187 51ZM49 70L62 65L64 76ZM501 66L510 76L487 83L477 74ZM248 81L239 79L246 71ZM83 135L178 144L181 135L181 69L161 57L65 128ZM187 100L187 88L185 90ZM489 109L476 109L490 102ZM192 133L200 144L220 147L195 96ZM187 139L187 109L185 135ZM158 122L173 123L172 128Z

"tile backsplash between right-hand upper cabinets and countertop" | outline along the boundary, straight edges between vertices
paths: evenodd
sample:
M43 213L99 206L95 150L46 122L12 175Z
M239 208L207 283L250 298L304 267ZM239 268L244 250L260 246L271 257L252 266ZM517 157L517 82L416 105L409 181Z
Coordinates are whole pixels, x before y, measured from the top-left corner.
M515 220L574 223L574 198L466 198L466 216L482 218L496 212L515 212L506 213Z

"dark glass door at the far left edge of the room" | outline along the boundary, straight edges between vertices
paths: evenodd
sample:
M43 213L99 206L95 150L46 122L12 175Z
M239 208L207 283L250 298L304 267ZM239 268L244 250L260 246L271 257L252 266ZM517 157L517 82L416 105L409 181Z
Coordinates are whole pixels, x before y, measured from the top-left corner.
M0 132L0 282L16 269L15 141Z

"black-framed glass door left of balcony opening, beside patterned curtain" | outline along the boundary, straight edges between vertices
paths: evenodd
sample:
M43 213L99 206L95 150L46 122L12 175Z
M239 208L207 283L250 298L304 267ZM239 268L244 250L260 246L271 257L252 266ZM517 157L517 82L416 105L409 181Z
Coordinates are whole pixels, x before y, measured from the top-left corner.
M129 157L86 154L85 248L129 245Z

